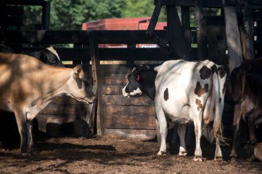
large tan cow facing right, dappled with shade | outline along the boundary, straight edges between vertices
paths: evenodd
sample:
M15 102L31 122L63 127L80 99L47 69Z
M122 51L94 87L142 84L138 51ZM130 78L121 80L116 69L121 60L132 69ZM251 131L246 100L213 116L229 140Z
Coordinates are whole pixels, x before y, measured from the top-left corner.
M14 112L21 153L34 149L30 121L54 98L66 94L88 104L96 99L81 65L54 67L23 54L0 53L0 72L0 109Z

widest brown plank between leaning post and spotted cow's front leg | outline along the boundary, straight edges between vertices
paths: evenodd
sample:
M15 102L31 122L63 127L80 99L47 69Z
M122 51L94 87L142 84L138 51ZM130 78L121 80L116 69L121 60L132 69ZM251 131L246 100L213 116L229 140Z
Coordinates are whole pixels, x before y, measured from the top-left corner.
M105 106L105 127L114 129L155 129L154 107Z

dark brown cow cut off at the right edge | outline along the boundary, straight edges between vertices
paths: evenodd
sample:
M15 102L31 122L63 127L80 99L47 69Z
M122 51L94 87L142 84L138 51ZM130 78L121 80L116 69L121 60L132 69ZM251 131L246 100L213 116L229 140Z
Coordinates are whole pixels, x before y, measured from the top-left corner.
M245 60L231 73L232 99L234 100L234 139L230 156L236 157L236 141L241 119L248 122L249 139L256 142L254 122L261 116L262 58ZM260 79L260 80L259 80ZM260 81L260 82L259 82Z

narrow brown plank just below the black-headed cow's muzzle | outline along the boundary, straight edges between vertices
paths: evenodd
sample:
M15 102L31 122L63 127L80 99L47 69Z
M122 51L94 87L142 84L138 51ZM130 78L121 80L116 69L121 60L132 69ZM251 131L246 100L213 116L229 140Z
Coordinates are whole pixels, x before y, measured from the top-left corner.
M125 98L122 95L104 95L103 99L105 105L121 105L121 106L148 106L154 105L154 102L148 96L141 96L137 98Z

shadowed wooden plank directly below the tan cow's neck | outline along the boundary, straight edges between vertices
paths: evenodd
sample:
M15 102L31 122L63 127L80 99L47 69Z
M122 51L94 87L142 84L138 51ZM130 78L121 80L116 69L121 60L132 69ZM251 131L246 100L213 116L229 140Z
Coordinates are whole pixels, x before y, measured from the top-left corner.
M85 115L88 110L88 105L48 105L45 109L40 111L40 114L48 115L66 115L66 114L77 114Z

